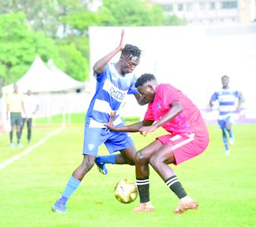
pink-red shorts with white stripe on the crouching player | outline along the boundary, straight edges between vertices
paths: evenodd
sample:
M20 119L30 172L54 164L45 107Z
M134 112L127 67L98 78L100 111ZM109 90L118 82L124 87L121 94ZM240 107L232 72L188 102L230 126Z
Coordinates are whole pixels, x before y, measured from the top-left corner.
M175 157L175 165L198 156L207 148L209 139L197 138L194 133L179 134L179 135L163 135L157 137L163 145L169 145Z

